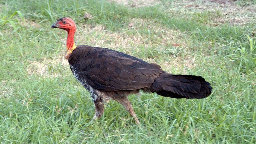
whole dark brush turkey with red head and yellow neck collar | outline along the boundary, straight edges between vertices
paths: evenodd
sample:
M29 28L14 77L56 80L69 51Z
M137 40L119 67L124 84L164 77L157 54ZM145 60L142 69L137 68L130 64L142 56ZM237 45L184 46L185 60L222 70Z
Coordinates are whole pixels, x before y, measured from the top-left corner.
M163 97L202 99L212 92L210 83L201 76L170 74L161 66L108 48L76 45L76 24L69 17L58 19L51 28L66 30L65 58L74 77L90 93L95 105L92 121L104 113L106 100L116 100L130 113L137 125L130 94L140 90Z

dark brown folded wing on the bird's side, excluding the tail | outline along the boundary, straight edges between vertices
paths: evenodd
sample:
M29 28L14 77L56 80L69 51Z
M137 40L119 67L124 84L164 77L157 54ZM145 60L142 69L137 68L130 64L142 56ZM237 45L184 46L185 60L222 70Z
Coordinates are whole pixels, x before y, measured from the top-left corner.
M137 90L150 87L162 73L159 65L107 48L78 46L69 63L95 89Z

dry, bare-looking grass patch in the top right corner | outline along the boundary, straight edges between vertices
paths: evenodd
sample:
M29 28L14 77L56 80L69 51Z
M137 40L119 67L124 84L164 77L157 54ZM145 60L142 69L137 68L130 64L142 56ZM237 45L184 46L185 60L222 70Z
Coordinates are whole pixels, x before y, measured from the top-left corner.
M256 23L256 5L238 5L231 0L182 0L175 1L171 11L189 12L191 14L201 13L211 14L212 19L209 19L209 24L218 26L219 24L229 23L231 25L245 25L247 23ZM206 13L208 12L208 13ZM205 19L208 17L205 15ZM203 16L199 16L203 17Z

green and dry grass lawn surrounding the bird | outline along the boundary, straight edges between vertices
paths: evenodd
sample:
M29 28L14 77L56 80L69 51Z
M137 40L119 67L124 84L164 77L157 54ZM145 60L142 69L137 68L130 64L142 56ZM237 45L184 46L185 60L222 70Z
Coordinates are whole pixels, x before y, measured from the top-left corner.
M255 1L118 2L0 1L1 143L255 143ZM115 101L90 122L92 99L64 59L66 33L50 28L63 16L78 25L76 44L201 75L212 95L131 95L141 127Z

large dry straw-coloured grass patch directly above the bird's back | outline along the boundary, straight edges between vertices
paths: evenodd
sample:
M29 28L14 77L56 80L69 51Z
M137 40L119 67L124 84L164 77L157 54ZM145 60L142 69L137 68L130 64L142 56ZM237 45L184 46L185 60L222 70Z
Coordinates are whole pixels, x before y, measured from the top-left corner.
M179 30L172 30L158 26L148 20L131 19L128 29L118 32L105 30L104 26L91 26L85 24L77 31L76 43L88 44L95 47L106 47L114 50L122 50L131 54L131 51L139 51L137 47L144 48L158 46L186 46L181 37L184 35ZM144 29L144 31L141 31ZM150 34L148 34L150 33ZM66 39L65 39L66 40Z

